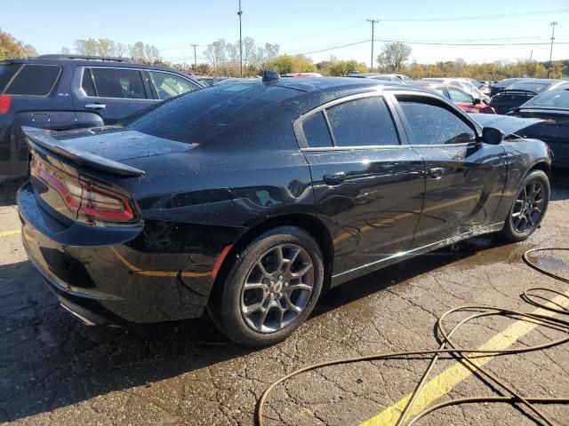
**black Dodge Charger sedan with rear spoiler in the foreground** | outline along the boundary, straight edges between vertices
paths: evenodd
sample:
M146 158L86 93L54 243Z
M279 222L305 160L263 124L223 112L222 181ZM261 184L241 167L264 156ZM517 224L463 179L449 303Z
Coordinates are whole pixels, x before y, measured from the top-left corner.
M517 138L520 119L482 128L397 83L263 80L24 130L23 241L65 309L96 325L207 309L267 345L326 288L482 233L524 240L546 212L548 147Z

